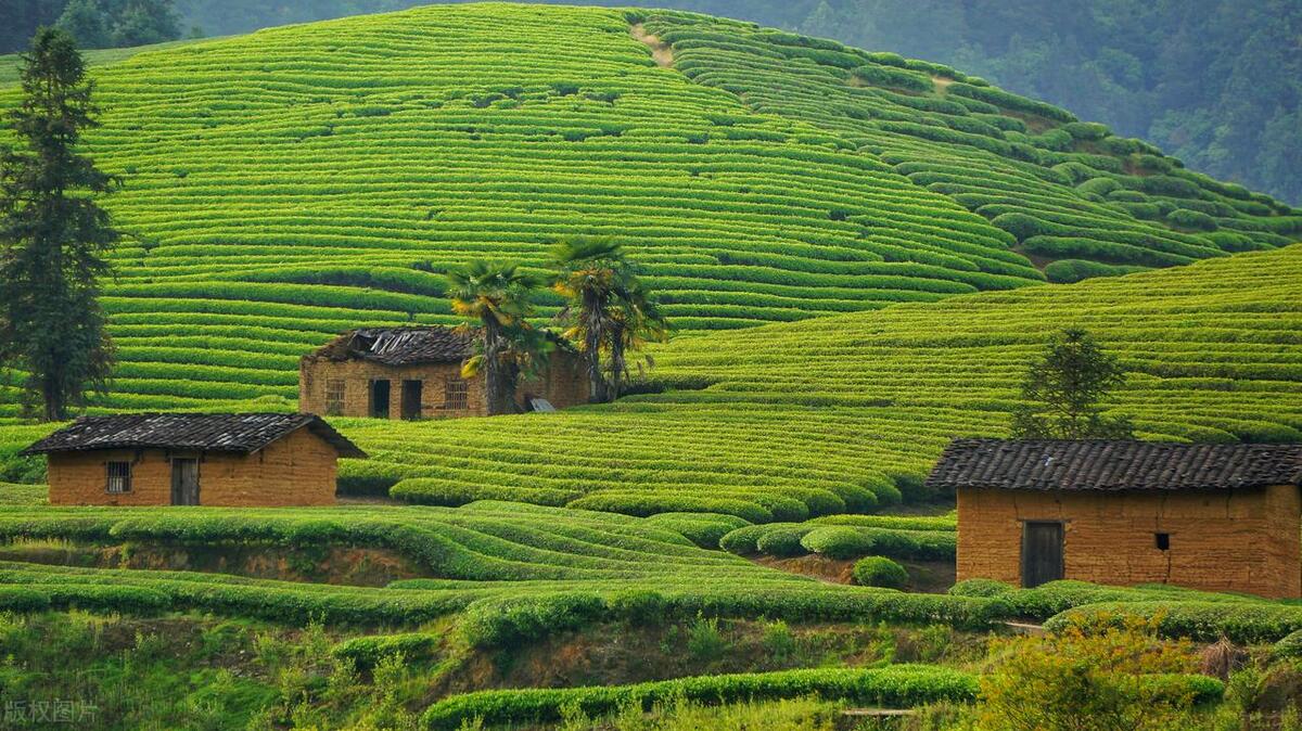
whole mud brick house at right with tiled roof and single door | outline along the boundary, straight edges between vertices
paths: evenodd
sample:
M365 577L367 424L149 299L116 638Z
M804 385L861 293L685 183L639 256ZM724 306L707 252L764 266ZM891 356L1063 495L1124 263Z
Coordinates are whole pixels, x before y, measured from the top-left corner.
M958 579L1302 596L1302 445L957 440Z

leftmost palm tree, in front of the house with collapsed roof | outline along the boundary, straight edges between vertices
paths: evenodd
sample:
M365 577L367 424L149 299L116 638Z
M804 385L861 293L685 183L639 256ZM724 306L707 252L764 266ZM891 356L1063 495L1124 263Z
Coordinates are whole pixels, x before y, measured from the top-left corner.
M542 282L521 272L518 264L471 261L449 271L448 284L453 312L477 320L482 330L475 355L461 368L462 376L484 373L488 414L517 411L519 377L536 369L540 362L536 350L547 342L526 321L533 313L530 297ZM462 325L462 332L470 328Z

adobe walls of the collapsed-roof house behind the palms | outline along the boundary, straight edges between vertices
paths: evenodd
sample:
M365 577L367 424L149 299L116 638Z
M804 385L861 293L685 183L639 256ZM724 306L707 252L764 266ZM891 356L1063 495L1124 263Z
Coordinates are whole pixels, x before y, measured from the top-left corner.
M447 382L461 377L461 364L435 363L426 366L384 366L372 360L329 360L327 358L303 358L298 369L298 410L303 414L327 415L326 384L342 380L344 412L340 416L370 416L372 380L388 380L389 418L402 416L402 381L423 381L422 419L457 419L464 416L488 416L488 398L483 376L467 380L467 407L444 408L444 388ZM543 377L521 384L517 401L523 398L546 398L556 408L566 408L587 403L587 379L578 360L569 354L552 356L552 366Z

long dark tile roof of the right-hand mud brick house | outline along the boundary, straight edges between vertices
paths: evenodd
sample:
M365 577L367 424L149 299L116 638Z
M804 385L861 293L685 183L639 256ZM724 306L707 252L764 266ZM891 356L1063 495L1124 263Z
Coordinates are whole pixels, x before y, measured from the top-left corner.
M954 440L934 489L1217 490L1302 483L1302 445Z

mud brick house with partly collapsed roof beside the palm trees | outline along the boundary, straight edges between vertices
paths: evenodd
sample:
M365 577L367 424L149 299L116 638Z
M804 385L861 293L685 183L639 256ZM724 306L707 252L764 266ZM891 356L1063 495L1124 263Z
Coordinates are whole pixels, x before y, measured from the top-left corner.
M452 419L492 416L483 376L461 377L474 351L473 334L453 328L366 328L350 330L298 367L298 408L328 416ZM557 347L535 381L516 394L522 411L534 399L556 408L587 403L591 394L578 355Z

